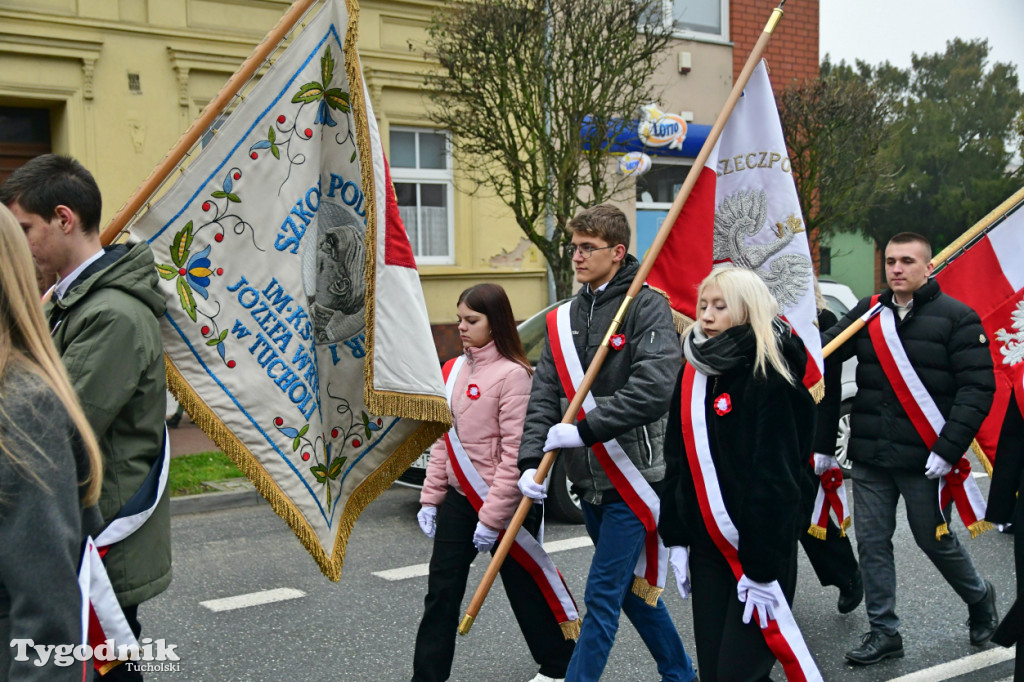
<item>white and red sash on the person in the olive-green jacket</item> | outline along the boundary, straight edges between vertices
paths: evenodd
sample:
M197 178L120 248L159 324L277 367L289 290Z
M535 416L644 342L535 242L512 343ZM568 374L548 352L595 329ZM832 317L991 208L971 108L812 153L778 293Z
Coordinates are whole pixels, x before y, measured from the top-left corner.
M171 459L170 438L164 427L163 456L156 462L141 487L118 512L99 536L93 540L86 538L82 558L78 568L78 587L82 593L83 640L93 651L108 643L109 656L102 659L93 655L92 666L100 675L105 675L122 660L137 656L138 640L125 620L121 604L111 585L111 579L103 566L103 557L115 545L135 532L153 515L157 504L167 487L167 473ZM104 656L105 658L106 656Z

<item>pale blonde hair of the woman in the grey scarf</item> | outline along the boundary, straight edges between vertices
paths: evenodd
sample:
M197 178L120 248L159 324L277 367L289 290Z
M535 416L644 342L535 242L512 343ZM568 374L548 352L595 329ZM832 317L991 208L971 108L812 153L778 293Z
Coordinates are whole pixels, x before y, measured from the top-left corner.
M703 296L705 289L712 284L722 292L732 326L750 325L754 332L754 374L767 376L767 366L771 365L787 382L794 384L793 374L782 357L778 339L772 330L778 303L768 291L768 286L754 270L745 267L716 267L700 283L697 290L698 301ZM697 319L691 328L699 324L700 311L697 310Z

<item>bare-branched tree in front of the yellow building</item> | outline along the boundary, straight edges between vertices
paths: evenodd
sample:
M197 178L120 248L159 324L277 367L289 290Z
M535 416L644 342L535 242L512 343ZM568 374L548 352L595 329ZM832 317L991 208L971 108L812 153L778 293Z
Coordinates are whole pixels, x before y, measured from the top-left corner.
M559 298L572 286L566 223L627 186L607 141L651 100L670 37L662 11L660 0L450 0L433 15L430 118L452 133L460 179L494 190L544 254Z

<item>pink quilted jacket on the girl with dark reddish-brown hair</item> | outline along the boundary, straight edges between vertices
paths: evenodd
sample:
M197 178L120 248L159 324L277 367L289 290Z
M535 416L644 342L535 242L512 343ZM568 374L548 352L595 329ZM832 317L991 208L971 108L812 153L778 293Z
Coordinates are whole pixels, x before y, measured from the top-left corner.
M452 415L473 466L490 486L479 512L480 520L501 529L522 499L517 486L516 460L529 401L530 375L523 366L502 356L494 341L481 348L467 349L466 359L456 378ZM466 395L470 384L479 388L475 400ZM444 439L439 438L430 449L420 504L439 505L449 485L465 495L449 462Z

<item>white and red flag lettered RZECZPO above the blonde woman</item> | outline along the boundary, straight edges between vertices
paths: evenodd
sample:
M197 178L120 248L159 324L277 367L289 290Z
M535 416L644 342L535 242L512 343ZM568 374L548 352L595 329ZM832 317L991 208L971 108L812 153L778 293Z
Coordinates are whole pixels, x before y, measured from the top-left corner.
M764 280L779 314L807 347L804 385L820 388L823 363L814 265L775 96L758 65L700 171L647 278L672 307L694 317L696 291L714 265L746 267Z

